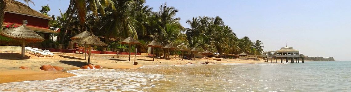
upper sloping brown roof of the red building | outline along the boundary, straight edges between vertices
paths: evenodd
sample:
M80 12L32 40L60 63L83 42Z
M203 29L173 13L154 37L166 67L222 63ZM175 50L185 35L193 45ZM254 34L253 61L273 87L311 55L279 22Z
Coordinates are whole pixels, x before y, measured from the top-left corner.
M33 16L33 17L39 17L41 19L52 20L52 17L49 17L49 16L42 14L42 13L39 13L38 11L33 10L32 8L18 6L18 5L15 5L14 3L11 3L11 2L6 2L5 12Z

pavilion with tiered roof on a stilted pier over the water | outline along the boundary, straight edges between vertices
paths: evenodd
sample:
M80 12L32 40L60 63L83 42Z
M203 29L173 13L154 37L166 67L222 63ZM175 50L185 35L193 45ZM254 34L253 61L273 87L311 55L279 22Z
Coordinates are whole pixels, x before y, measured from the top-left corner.
M300 63L300 60L301 63L305 62L305 56L302 54L300 55L299 50L287 46L280 48L280 50L263 52L263 58L265 58L267 62L269 62L269 60L273 62L273 59L275 59L276 63L277 59L280 59L280 63L283 63L283 60L285 60L286 63L288 63L289 60L290 63Z

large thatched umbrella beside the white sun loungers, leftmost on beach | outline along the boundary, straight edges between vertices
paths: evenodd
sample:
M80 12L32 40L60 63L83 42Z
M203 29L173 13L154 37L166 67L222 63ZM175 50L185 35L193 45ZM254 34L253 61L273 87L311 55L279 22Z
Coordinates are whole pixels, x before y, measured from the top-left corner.
M2 26L2 25L0 25ZM22 57L25 57L24 51L25 51L25 43L29 42L41 42L44 41L45 39L35 33L33 30L29 29L26 27L25 21L23 21L23 25L16 27L16 28L11 28L11 29L5 29L0 31L0 35L6 36L15 40L21 40L22 41Z

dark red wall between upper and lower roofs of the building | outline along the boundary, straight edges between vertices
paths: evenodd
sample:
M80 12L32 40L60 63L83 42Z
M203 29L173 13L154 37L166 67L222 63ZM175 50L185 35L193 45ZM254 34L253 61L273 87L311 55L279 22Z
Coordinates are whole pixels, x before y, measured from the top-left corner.
M22 24L22 20L27 20L27 25L30 26L49 28L49 20L47 19L5 12L4 22Z

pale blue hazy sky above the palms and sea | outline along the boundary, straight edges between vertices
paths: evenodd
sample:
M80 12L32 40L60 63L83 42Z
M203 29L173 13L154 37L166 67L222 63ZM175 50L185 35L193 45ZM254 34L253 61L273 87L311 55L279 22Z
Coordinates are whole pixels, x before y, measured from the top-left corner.
M32 0L34 10L49 5L49 15L66 10L69 0ZM239 38L263 42L264 51L293 47L307 56L351 60L351 0L146 0L159 10L161 4L179 10L176 17L219 16Z

